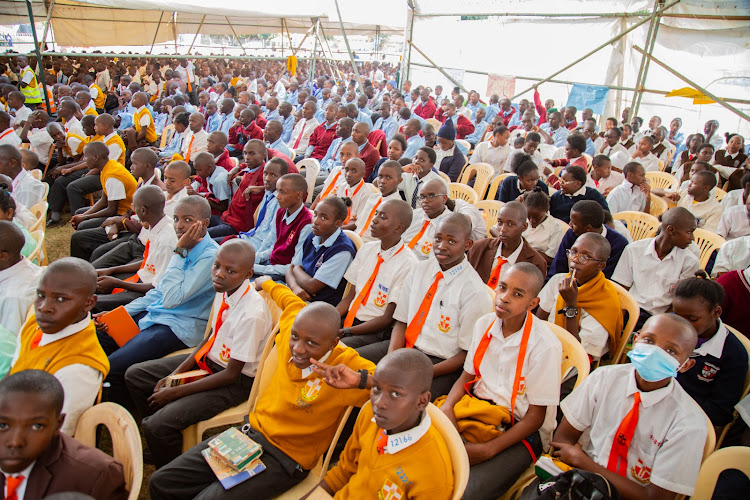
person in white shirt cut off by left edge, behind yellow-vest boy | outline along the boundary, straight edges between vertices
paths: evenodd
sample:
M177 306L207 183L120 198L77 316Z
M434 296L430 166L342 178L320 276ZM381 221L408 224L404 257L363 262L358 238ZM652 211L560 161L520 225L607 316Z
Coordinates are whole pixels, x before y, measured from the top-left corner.
M18 335L26 312L36 299L36 286L42 275L40 267L21 255L25 243L23 232L13 222L0 221L0 326Z

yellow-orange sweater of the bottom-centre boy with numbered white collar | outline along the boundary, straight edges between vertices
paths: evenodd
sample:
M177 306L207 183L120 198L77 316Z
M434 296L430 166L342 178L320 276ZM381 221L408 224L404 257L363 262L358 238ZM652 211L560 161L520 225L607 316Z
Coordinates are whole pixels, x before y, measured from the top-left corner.
M427 434L408 448L380 455L378 425L367 405L357 418L339 463L325 481L334 498L400 498L442 500L453 493L453 469L448 447L431 426Z

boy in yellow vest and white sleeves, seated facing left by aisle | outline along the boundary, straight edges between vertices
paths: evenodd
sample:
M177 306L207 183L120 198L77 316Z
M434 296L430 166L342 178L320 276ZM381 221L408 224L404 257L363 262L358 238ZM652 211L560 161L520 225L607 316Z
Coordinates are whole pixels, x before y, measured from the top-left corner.
M121 163L109 159L109 149L103 142L87 144L83 148L83 155L89 170L100 171L103 194L94 206L76 211L70 219L70 224L75 229L99 227L108 217L131 210L133 194L138 184Z

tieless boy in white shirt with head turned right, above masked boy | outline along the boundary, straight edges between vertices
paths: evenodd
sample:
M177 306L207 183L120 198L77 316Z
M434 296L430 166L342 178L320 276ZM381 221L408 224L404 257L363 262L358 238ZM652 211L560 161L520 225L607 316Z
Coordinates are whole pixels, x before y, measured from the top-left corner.
M655 238L635 241L622 252L612 281L628 290L640 306L636 328L651 315L667 312L677 282L700 271L698 257L688 250L696 226L692 213L675 207L662 215L661 232Z

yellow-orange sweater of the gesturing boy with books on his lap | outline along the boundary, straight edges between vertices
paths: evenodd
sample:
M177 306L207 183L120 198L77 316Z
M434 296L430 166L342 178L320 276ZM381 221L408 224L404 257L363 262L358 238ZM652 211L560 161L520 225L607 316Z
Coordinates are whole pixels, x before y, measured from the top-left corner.
M312 469L328 449L347 406L362 406L369 390L335 389L315 373L302 378L290 361L289 337L297 313L306 303L284 285L267 281L263 289L283 310L276 336L278 364L269 386L258 398L250 425L305 469ZM326 360L352 370L375 371L375 365L357 352L338 344Z

